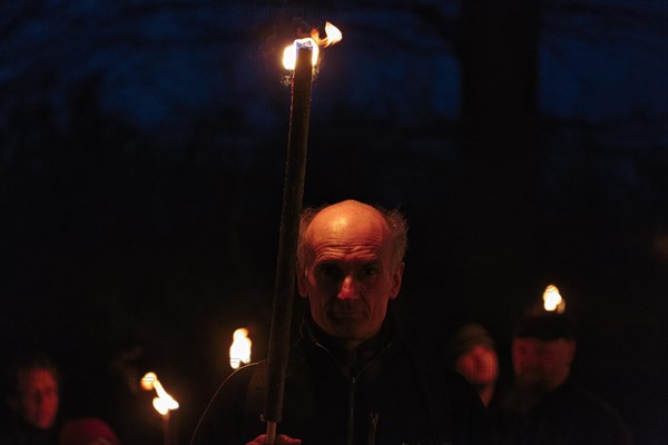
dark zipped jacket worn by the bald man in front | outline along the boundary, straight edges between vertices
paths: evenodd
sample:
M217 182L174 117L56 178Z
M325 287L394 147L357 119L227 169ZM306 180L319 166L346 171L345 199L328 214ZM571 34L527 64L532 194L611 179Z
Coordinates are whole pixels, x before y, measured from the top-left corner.
M489 443L475 392L455 373L428 370L390 323L354 354L334 347L310 320L302 334L288 359L278 433L304 445ZM193 444L238 445L263 434L265 374L264 363L234 373L214 396Z

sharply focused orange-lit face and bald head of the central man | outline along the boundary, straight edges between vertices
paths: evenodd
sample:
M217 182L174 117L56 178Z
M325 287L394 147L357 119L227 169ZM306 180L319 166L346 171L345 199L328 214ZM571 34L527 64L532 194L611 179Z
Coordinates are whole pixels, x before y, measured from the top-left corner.
M308 227L305 251L298 287L308 298L313 320L348 346L374 336L403 273L403 263L392 264L383 217L361 202L328 207Z

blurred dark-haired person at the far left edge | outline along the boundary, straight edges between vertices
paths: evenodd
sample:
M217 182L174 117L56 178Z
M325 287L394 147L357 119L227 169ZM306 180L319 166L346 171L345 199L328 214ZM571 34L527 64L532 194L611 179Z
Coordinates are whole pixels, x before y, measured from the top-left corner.
M6 376L10 418L1 426L2 445L56 445L60 374L45 354L31 353L10 366Z

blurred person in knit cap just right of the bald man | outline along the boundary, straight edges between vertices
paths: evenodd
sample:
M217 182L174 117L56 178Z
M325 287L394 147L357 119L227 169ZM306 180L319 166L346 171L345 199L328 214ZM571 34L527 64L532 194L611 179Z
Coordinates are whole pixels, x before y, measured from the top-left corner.
M499 379L499 357L489 332L478 323L464 325L452 336L448 349L454 370L464 376L489 407Z

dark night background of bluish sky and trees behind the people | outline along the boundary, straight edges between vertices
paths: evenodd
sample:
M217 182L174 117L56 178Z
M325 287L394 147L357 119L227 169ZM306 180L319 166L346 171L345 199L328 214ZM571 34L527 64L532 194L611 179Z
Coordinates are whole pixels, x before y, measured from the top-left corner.
M513 320L553 283L574 374L665 443L667 18L661 0L1 2L3 364L46 350L63 412L127 445L160 442L137 389L155 370L187 443L234 329L266 355L279 56L330 20L304 201L406 212L406 336L440 357L481 322L507 380Z

